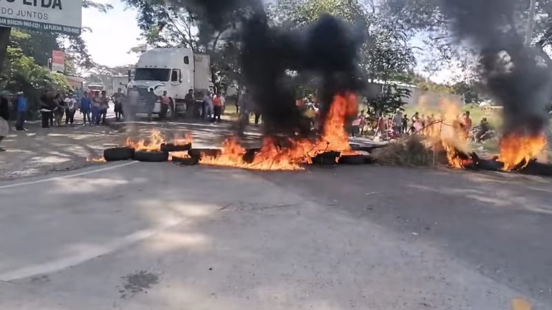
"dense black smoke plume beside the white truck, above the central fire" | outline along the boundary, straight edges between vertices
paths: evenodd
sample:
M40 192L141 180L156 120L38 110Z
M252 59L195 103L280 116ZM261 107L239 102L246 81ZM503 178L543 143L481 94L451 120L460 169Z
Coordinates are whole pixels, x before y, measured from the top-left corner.
M220 27L223 17L239 19L246 90L262 112L269 134L310 130L295 105L297 81L317 81L322 117L335 94L355 92L363 85L357 68L363 38L339 19L327 15L306 28L286 30L269 24L261 0L174 2L198 12L204 18L200 23L204 30Z

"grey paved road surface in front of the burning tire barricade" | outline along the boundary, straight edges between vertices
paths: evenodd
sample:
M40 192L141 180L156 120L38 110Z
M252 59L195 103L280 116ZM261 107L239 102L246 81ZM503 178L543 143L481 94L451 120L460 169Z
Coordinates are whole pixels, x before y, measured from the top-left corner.
M550 180L117 163L0 183L0 309L552 308Z

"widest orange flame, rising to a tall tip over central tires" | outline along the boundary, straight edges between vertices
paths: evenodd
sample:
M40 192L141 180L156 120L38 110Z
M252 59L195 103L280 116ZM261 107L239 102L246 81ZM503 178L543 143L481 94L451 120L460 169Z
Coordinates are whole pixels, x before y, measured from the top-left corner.
M247 162L244 161L247 150L239 145L236 138L229 138L222 144L219 156L204 156L201 163L253 170L301 170L301 163L311 163L312 157L326 151L354 154L345 125L349 116L356 115L357 106L355 94L335 96L326 117L324 134L316 141L290 138L284 141L288 147L280 147L272 138L264 138L259 152Z

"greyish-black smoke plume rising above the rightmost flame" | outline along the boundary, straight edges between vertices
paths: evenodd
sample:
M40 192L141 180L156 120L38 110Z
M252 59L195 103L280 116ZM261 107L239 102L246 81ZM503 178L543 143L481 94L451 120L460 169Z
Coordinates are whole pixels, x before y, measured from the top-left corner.
M480 52L480 73L504 105L504 134L541 134L552 99L551 70L542 54L524 45L517 0L442 0L442 11L460 41Z

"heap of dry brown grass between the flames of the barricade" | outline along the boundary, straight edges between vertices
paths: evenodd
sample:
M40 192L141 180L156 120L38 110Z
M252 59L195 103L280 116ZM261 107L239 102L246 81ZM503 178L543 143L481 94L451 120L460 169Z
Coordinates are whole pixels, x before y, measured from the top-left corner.
M423 138L417 134L375 149L372 156L382 165L429 166L434 163L431 147L426 147Z

